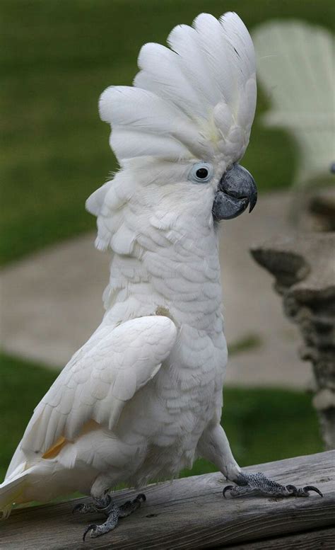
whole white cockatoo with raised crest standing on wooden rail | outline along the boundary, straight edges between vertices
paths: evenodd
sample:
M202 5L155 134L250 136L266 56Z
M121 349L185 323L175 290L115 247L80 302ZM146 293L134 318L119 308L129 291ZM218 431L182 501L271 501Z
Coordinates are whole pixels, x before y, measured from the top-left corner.
M134 86L111 86L120 170L87 201L96 246L112 251L106 313L37 405L4 483L0 509L81 491L100 510L91 537L139 507L109 491L172 479L204 457L236 486L230 495L308 495L243 474L220 425L227 346L218 222L250 210L252 176L238 161L256 104L254 48L235 13L178 25L170 48L146 44Z

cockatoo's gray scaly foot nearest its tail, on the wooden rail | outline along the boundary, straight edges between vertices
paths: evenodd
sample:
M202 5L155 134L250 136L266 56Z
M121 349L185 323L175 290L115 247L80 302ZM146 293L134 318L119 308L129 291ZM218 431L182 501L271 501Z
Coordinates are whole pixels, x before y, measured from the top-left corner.
M105 506L105 508L98 508L98 510L95 510L103 512L105 515L107 515L107 520L101 525L95 525L94 523L88 525L83 533L83 540L85 541L88 532L90 532L90 537L92 537L93 539L95 539L96 537L100 537L102 534L109 533L117 526L119 517L127 517L127 515L132 514L133 512L135 512L135 510L137 510L137 508L140 508L141 503L145 501L146 495L143 495L142 493L140 495L137 495L134 500L127 500L127 503L124 503L121 506L115 505L112 501L112 498L110 498L110 502L107 506ZM82 512L82 510L78 511L80 511L81 513L86 513Z

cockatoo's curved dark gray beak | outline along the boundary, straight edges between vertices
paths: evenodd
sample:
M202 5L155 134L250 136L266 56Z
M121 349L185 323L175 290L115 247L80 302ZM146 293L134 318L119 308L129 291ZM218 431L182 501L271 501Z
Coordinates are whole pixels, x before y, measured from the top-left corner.
M223 174L213 202L213 218L233 219L245 211L247 205L251 212L257 202L257 187L254 178L240 164L234 164Z

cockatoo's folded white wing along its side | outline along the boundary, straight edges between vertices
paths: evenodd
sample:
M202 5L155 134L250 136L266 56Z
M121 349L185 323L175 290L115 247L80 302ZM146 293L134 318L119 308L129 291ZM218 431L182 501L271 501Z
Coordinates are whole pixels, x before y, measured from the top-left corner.
M35 408L21 449L46 453L60 437L74 440L90 420L112 430L124 403L158 372L176 334L167 317L146 316L95 336Z

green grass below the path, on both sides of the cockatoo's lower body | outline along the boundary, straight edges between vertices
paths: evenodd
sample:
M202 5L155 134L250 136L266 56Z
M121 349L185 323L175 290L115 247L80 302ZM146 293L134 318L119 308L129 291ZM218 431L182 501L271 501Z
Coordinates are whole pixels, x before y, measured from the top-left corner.
M1 355L0 480L25 426L56 373ZM223 425L240 466L322 451L316 413L310 396L281 389L226 389ZM215 471L198 460L182 476Z

